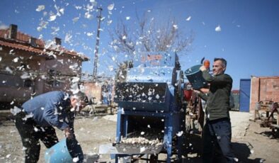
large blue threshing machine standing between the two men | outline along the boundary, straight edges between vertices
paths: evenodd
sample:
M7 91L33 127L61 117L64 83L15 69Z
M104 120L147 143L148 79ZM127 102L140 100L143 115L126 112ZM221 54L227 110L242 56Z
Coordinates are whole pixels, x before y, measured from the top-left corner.
M118 157L135 154L166 152L167 162L172 153L181 159L185 133L185 111L182 108L183 72L178 56L168 52L144 52L134 60L126 81L115 86L118 103L116 147L125 147ZM133 133L152 133L159 137L161 146L123 145L121 141ZM174 141L174 139L176 141ZM144 151L139 151L144 147Z

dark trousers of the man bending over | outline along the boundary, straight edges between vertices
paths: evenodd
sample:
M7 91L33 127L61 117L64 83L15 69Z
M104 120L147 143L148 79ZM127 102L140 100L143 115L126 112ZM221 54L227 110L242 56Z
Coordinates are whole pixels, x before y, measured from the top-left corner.
M58 142L55 128L40 127L35 124L32 118L23 120L25 114L18 113L16 116L16 128L21 135L23 148L25 149L25 163L38 162L40 157L40 142L41 140L45 147L50 148Z

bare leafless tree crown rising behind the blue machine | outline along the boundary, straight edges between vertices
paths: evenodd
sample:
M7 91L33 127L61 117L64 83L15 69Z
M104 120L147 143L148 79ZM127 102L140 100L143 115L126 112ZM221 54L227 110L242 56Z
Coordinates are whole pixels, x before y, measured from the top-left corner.
M142 16L136 11L135 24L127 24L120 20L113 32L110 32L112 39L111 46L118 53L133 55L136 52L183 52L186 54L193 43L193 32L184 35L178 28L175 18L157 22L149 18L147 12ZM135 25L135 26L134 26Z

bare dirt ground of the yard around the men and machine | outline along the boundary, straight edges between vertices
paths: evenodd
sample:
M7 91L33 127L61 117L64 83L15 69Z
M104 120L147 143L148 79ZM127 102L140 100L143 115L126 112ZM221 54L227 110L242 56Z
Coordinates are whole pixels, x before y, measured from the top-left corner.
M239 162L279 162L279 138L272 137L270 128L261 128L249 120L249 113L231 112L232 142ZM84 154L98 154L98 147L112 143L116 133L116 115L109 116L77 116L75 120L76 137ZM57 130L59 139L63 139L62 131ZM200 162L200 140L192 140L192 153L183 162ZM44 162L45 146L41 144L40 160ZM0 162L23 162L23 146L20 136L7 111L0 111ZM198 153L195 153L198 152ZM99 156L99 162L113 162L109 155Z

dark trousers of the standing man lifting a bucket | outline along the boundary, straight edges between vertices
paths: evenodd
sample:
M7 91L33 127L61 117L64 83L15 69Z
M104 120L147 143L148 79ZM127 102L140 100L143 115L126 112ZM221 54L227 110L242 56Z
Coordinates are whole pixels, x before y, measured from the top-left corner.
M207 120L203 128L203 162L236 162L231 138L232 125L228 118Z

